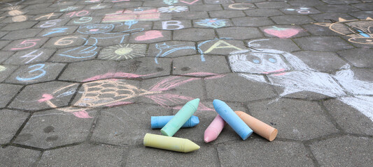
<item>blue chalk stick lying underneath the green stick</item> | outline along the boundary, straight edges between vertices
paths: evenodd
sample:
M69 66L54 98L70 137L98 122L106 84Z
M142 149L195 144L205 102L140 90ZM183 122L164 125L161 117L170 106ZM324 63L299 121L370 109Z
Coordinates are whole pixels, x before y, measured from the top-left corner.
M152 116L151 117L151 125L152 129L160 129L164 127L164 125L174 118L174 116ZM191 116L187 122L182 127L194 127L199 123L199 119L197 116Z

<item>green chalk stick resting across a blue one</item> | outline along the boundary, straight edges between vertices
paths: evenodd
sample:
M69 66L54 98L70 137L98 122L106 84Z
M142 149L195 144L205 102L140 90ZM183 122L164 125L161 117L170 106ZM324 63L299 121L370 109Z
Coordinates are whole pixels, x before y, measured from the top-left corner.
M175 114L174 118L169 120L160 132L166 136L174 136L174 134L180 129L185 122L197 111L199 99L190 100L187 102L179 111Z

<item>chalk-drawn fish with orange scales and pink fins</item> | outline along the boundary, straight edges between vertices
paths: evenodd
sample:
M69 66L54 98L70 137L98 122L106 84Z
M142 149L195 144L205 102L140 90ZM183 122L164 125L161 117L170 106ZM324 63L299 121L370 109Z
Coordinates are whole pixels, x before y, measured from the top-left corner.
M156 73L154 73L156 74ZM167 93L167 90L176 88L190 81L202 79L217 79L224 77L225 74L214 74L209 72L194 72L185 74L191 77L173 76L167 77L157 82L154 86L150 86L148 90L137 88L131 84L127 84L124 79L141 78L153 74L130 74L125 72L109 72L106 74L97 75L83 80L80 90L75 90L78 84L71 84L55 90L51 94L43 94L43 98L38 100L39 103L45 102L51 108L58 109L67 113L73 113L78 118L92 118L87 113L87 110L97 107L114 107L132 104L131 99L134 97L146 97L153 100L162 107L170 109L181 109L183 104L195 99L183 95L174 95ZM121 78L121 79L113 79ZM58 108L52 101L58 97L73 95L76 93L76 99L73 105L63 108ZM200 111L213 111L204 104L199 104Z

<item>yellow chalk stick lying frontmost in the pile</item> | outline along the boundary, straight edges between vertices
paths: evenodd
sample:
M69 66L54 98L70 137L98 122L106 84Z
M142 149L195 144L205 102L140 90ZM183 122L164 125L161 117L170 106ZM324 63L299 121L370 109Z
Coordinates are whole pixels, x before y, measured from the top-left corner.
M199 149L199 145L186 138L176 138L157 134L146 134L143 145L176 152L192 152Z

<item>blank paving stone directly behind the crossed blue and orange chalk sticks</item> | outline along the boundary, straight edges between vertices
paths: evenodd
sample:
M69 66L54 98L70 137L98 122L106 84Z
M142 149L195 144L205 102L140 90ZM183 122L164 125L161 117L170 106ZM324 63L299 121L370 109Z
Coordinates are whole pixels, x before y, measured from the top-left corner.
M206 90L209 99L223 101L234 99L237 102L248 102L274 97L274 92L269 85L248 81L238 74L227 74L220 79L206 80Z

